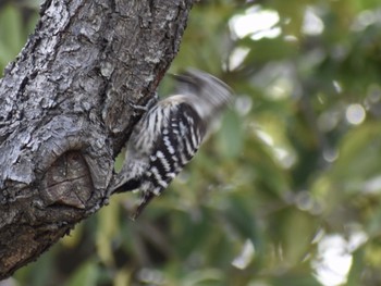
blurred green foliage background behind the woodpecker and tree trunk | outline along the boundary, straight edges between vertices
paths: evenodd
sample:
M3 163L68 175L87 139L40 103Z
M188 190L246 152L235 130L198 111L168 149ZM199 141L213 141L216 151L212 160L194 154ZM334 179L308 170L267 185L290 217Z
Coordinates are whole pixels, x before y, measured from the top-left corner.
M1 8L3 67L36 16ZM114 196L13 282L381 285L379 1L200 1L186 66L235 90L218 132L137 222Z

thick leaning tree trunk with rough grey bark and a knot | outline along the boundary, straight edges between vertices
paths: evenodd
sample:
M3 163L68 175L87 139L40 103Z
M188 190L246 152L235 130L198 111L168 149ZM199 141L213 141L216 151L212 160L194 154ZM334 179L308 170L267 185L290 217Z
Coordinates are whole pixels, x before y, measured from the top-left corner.
M108 201L193 0L48 0L0 79L0 279Z

